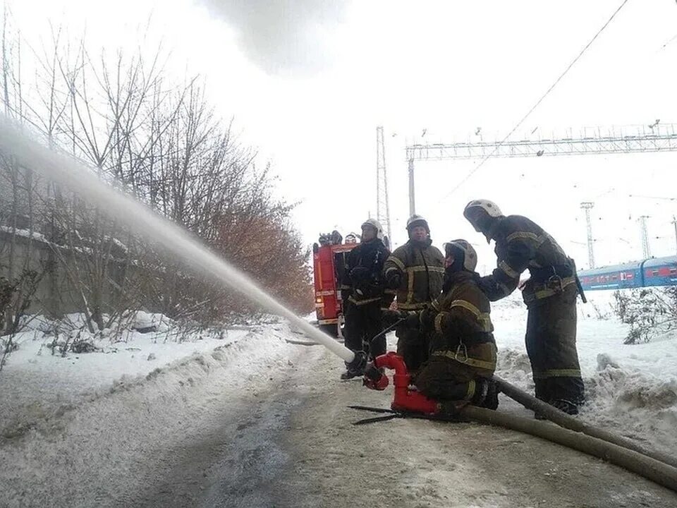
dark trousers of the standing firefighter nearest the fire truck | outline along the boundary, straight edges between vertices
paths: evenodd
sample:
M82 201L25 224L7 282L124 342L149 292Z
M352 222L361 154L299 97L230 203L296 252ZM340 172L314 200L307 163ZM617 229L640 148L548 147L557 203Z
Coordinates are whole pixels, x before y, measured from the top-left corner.
M359 305L346 301L343 309L346 327L343 329L345 345L351 351L366 351L371 358L386 352L386 337L372 338L383 331L380 301Z

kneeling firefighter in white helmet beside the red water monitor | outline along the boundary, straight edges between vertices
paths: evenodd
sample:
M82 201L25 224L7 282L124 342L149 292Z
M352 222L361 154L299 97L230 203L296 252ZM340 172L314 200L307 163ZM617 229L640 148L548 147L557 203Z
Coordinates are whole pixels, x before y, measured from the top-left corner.
M429 344L429 357L414 384L429 399L496 409L498 393L491 381L496 342L489 300L477 286L477 253L465 240L445 243L444 250L441 295L406 319L408 327L427 335Z

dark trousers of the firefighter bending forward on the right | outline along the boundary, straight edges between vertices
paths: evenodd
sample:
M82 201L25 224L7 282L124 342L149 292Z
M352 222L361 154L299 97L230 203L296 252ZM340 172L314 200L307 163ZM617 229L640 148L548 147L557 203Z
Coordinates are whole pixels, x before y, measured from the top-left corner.
M526 346L538 399L583 404L585 390L576 350L576 287L530 302Z

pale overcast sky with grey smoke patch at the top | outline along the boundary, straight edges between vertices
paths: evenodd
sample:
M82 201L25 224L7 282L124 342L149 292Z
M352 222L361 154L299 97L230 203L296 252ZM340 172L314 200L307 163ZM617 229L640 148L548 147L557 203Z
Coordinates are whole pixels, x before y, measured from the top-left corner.
M47 22L87 46L171 49L176 75L205 76L209 96L235 116L245 143L300 201L305 240L357 230L376 212L376 126L383 125L396 243L408 216L404 147L503 138L609 19L622 0L15 0L23 35ZM583 127L677 123L677 4L629 0L582 59L514 135ZM425 138L421 138L425 129ZM535 130L536 129L536 130ZM491 159L454 193L477 161L417 164L417 212L435 243L465 237L494 257L462 216L472 198L526 214L587 265L580 202L594 200L597 265L641 258L638 217L654 255L672 255L677 152Z

